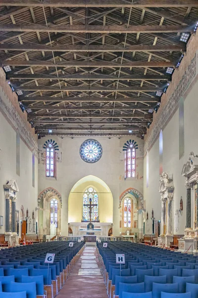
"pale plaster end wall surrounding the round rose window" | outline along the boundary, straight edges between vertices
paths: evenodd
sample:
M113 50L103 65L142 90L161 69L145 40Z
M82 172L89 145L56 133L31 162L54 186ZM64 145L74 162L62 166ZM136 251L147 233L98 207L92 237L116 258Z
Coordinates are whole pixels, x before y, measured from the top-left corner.
M59 155L62 152L62 162L57 163L57 178L47 178L45 165L39 163L39 193L48 187L55 188L62 196L61 234L68 234L68 197L74 184L87 175L94 175L102 179L109 187L113 196L113 234L119 235L119 196L129 187L134 187L143 193L143 179L124 180L124 160L121 160L121 151L124 143L133 137L127 138L96 138L102 146L103 153L100 160L90 164L83 161L79 155L81 144L89 138L59 138L46 136L39 140L39 149L48 140L55 140L59 146ZM137 149L137 165L139 177L143 176L143 140L134 139L142 145L142 151ZM105 208L105 206L103 206Z

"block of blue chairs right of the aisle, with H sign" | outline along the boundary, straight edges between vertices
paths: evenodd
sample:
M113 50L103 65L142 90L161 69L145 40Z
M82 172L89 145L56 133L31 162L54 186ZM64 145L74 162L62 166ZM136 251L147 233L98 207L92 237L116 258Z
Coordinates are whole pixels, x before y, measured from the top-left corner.
M124 298L126 293L133 297L133 292L140 287L142 293L150 293L149 295L154 298L160 298L161 292L167 292L167 289L175 287L177 287L176 292L173 292L175 295L187 294L186 292L194 298L198 295L196 256L131 242L109 241L106 248L101 242L97 243L97 247L109 298L116 296L122 298L122 292ZM116 264L117 253L125 255L125 264L121 267ZM163 286L158 288L158 284ZM192 285L193 293L190 291ZM160 290L158 296L155 293L156 289Z

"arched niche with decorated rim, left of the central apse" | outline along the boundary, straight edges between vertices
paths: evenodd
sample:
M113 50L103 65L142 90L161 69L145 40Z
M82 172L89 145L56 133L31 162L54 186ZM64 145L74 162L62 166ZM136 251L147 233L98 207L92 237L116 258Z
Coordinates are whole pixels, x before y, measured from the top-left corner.
M56 235L61 232L61 208L62 208L62 198L60 193L52 188L46 188L43 190L38 197L38 211L39 211L39 234L40 235L50 235L50 202L51 200L57 200L57 227L55 229Z

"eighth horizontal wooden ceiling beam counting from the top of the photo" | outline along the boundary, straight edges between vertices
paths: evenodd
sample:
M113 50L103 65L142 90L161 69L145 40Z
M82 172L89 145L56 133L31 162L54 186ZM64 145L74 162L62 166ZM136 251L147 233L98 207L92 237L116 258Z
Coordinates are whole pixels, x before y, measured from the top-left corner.
M100 107L100 106L78 106L78 107L58 107L58 106L50 106L50 105L29 105L27 108L31 110L72 110L72 111L79 111L79 110L84 110L84 111L90 111L90 110L149 110L151 107L147 105L133 105L133 106L124 106L124 107L113 107L113 106L105 106L105 107Z

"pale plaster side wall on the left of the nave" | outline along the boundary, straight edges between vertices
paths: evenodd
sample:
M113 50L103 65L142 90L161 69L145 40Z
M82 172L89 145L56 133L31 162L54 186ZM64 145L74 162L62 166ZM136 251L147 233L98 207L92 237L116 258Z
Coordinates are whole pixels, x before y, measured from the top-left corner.
M1 94L0 94L1 95ZM21 205L29 210L29 216L32 218L32 212L37 207L38 197L38 159L35 157L35 187L32 186L32 151L28 149L25 143L20 139L20 176L16 174L16 132L7 122L0 112L0 215L3 216L4 225L0 233L4 233L5 228L5 205L3 185L7 180L16 179L19 187L17 193L16 210ZM35 212L37 221L37 212ZM19 226L20 233L20 226ZM19 234L20 235L20 234Z

